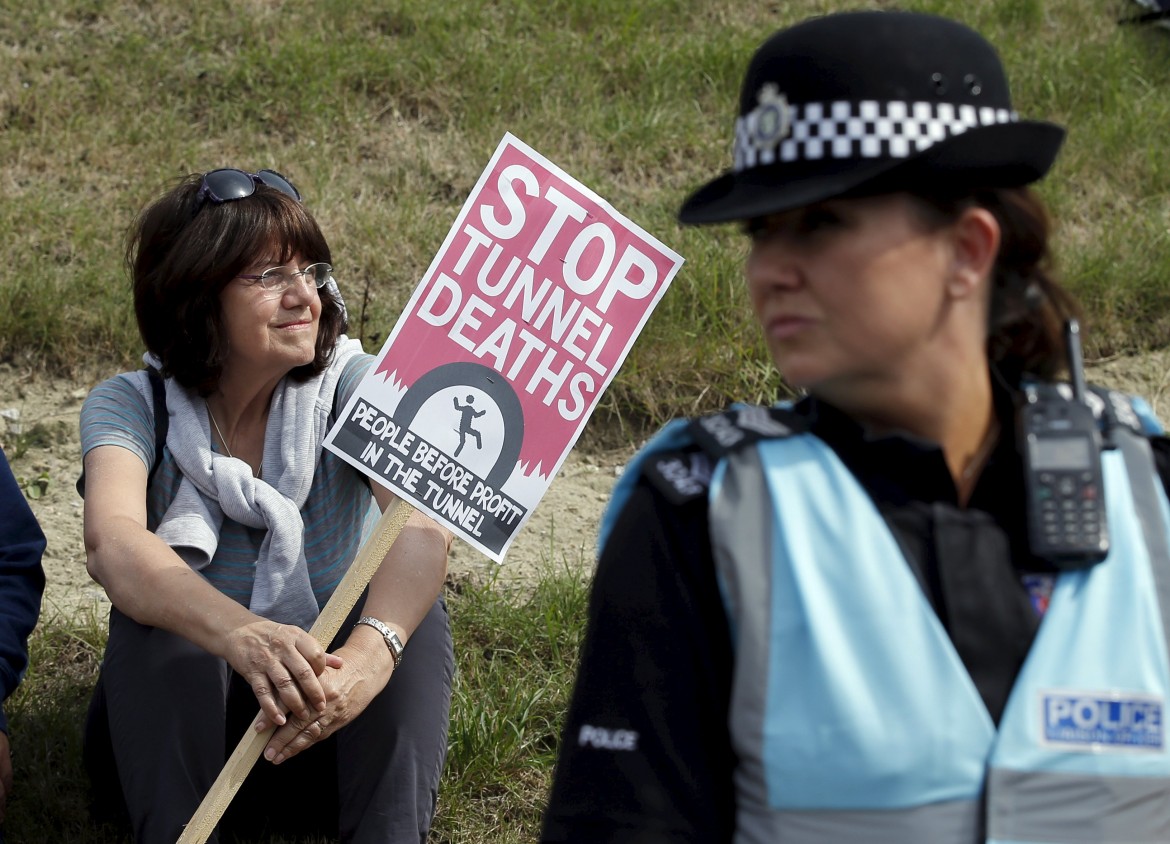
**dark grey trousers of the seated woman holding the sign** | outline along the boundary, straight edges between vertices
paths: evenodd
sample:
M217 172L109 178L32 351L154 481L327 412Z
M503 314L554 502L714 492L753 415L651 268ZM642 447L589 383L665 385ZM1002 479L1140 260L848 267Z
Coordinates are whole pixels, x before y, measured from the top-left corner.
M345 640L363 603L329 650ZM453 673L440 599L366 711L280 766L257 760L208 840L222 832L226 839L281 833L355 844L425 842L447 753ZM85 725L98 815L129 815L142 844L173 844L259 711L252 688L227 663L112 610Z

